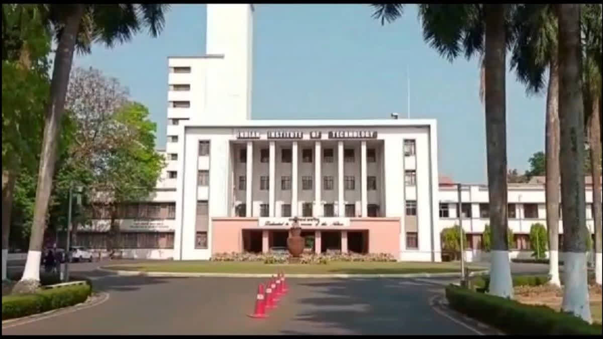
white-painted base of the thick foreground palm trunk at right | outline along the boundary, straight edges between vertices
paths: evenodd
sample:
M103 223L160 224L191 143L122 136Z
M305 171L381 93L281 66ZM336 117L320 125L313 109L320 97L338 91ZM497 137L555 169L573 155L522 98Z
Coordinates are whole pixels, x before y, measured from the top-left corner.
M568 252L564 260L565 284L561 310L571 312L592 323L590 317L589 285L586 277L586 253Z

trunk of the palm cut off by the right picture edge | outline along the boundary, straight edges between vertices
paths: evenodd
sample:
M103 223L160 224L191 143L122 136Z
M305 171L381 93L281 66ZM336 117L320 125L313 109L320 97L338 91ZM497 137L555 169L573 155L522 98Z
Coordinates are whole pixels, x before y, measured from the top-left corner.
M595 281L601 285L601 108L600 96L590 100L590 171L593 177L593 220L595 221Z

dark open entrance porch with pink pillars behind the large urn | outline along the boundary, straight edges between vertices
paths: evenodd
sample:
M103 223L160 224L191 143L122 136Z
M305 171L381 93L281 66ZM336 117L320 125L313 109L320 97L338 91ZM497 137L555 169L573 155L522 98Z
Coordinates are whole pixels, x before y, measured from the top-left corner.
M286 253L288 230L241 230L242 250L250 253ZM367 254L368 230L302 230L304 253Z

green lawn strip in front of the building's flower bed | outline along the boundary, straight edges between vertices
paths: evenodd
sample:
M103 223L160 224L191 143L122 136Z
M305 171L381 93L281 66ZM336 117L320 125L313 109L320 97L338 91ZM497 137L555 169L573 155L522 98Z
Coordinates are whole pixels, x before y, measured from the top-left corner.
M264 262L172 261L118 265L112 270L178 273L276 273L288 274L405 274L458 272L458 262L330 262L329 264L264 264ZM469 266L472 271L483 267Z

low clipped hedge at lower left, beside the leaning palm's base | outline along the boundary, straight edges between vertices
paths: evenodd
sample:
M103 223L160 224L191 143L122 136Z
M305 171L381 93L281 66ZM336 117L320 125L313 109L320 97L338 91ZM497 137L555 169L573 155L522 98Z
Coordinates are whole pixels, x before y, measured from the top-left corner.
M91 292L92 286L83 284L5 296L2 297L2 320L73 306L86 301Z

